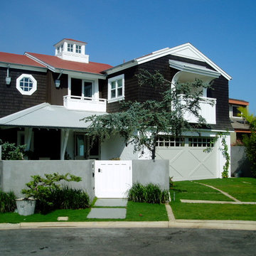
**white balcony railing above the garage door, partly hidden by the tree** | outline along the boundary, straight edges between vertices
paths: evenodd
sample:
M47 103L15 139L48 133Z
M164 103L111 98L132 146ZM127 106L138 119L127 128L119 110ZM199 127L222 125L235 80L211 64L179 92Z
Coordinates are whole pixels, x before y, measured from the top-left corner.
M185 105L186 101L183 100L183 95L179 95L181 104ZM216 124L216 99L201 97L201 101L199 102L199 106L201 110L199 110L199 114L206 119L206 124ZM189 112L188 110L184 112L184 118L191 123L197 123L198 118Z

